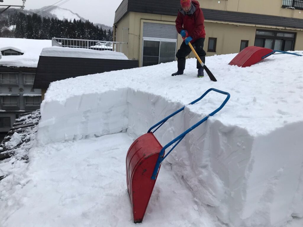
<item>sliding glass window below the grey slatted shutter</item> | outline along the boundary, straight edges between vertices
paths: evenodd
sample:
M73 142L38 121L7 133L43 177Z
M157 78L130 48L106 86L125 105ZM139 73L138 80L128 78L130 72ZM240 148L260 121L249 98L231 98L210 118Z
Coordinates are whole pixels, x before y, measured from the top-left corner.
M175 61L176 42L143 40L142 66Z

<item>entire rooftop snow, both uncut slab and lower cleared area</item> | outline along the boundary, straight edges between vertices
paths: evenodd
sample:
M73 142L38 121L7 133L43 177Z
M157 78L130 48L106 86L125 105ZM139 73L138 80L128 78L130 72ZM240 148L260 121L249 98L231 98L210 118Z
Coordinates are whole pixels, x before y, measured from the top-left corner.
M196 77L195 59L175 77L171 62L53 82L28 165L15 162L16 177L0 182L0 223L135 226L126 190L129 146L214 87L230 100L163 162L141 225L302 226L303 58L273 55L241 68L228 65L234 57L206 58L217 82ZM186 105L156 138L164 146L225 97L211 91Z

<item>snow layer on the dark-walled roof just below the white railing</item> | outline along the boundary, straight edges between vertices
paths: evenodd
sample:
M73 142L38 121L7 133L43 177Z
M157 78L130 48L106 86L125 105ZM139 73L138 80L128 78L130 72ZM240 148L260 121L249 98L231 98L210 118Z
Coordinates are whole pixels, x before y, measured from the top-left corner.
M43 48L41 52L41 56L128 60L125 54L120 52L99 51L99 50L90 50L84 48L56 47L56 46Z

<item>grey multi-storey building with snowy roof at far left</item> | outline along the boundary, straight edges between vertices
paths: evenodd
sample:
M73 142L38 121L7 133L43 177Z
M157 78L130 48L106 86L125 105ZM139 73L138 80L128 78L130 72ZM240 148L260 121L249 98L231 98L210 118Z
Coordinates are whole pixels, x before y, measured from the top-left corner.
M51 41L0 38L0 134L21 113L40 108L41 89L33 89L41 49ZM0 135L1 137L1 135Z

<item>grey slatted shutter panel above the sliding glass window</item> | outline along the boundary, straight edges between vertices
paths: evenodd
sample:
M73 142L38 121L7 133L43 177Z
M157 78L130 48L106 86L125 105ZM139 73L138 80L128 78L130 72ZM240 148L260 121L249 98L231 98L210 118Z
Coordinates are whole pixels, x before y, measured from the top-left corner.
M178 32L175 25L143 22L143 37L168 38L177 40Z

